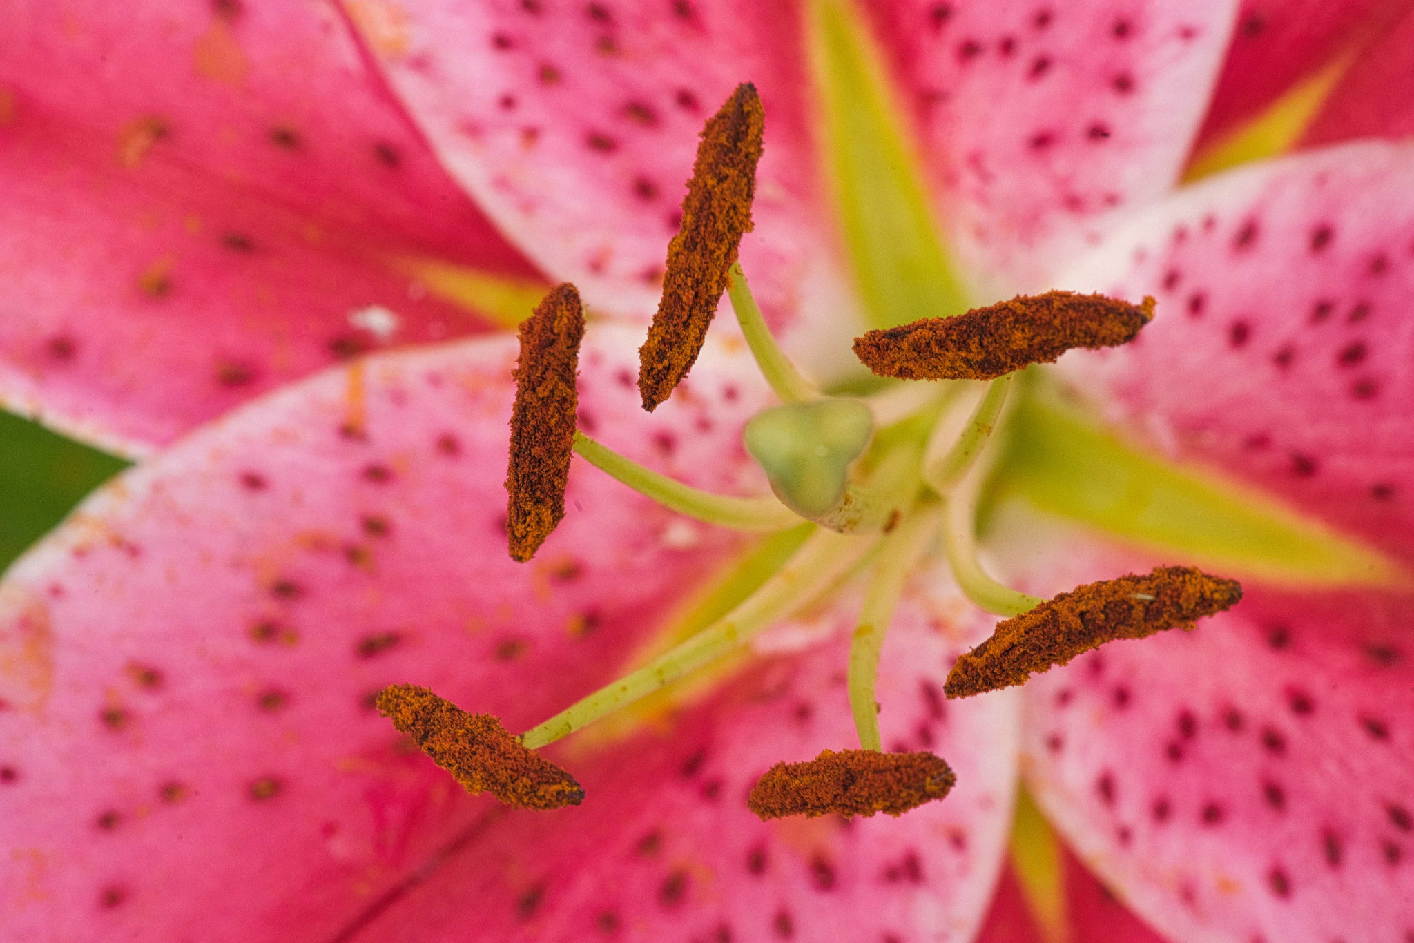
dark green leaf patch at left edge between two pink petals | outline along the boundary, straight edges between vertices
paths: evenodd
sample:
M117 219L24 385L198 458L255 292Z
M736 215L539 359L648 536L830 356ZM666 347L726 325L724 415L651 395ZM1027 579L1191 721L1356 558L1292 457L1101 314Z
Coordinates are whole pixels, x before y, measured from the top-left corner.
M0 568L127 462L0 411Z

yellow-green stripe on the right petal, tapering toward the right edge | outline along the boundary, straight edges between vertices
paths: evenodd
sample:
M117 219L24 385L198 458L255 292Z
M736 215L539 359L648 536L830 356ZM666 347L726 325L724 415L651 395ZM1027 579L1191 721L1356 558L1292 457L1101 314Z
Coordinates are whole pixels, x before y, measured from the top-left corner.
M1408 585L1398 564L1216 472L1140 451L1031 385L994 495L1230 575L1295 587Z

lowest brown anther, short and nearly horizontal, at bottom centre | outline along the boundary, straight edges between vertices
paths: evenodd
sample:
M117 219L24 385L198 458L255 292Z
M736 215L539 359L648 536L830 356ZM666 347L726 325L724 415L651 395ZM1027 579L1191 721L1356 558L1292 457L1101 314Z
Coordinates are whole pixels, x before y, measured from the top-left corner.
M957 776L928 752L823 751L805 763L776 763L756 782L747 806L761 819L785 816L901 816L942 799Z

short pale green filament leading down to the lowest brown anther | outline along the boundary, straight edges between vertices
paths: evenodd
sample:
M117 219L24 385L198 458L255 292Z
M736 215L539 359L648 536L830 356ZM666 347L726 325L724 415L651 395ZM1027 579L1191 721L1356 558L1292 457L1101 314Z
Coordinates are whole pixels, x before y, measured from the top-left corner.
M864 605L860 607L860 621L850 643L850 710L854 711L854 728L864 749L884 749L874 700L880 652L904 594L904 581L937 536L939 510L937 505L932 505L912 515L884 539Z

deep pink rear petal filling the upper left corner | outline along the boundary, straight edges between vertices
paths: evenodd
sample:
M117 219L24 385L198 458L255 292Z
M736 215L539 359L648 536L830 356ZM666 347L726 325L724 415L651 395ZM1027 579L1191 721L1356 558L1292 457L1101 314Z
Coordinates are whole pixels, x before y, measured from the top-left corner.
M139 454L337 352L484 325L406 257L530 271L318 4L7 11L0 185L0 399Z

